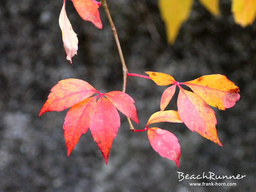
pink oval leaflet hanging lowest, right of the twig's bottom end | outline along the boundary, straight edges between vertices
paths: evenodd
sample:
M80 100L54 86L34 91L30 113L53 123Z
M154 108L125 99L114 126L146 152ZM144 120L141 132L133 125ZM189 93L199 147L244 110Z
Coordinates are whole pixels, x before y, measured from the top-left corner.
M162 157L173 160L179 167L180 144L169 131L152 127L148 129L148 140L152 148Z

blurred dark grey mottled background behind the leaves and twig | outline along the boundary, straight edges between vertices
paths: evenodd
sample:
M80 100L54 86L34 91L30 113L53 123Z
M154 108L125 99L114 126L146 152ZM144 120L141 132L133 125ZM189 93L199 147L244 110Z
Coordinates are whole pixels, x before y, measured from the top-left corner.
M241 98L226 111L214 108L223 147L191 132L184 124L159 123L181 146L180 167L159 156L146 132L130 132L124 115L106 166L90 131L67 158L62 125L67 110L38 117L52 86L78 78L100 92L122 90L122 68L102 8L103 29L82 20L71 1L66 10L78 34L77 56L65 57L58 24L61 0L0 1L0 191L10 192L189 192L255 191L256 22L234 23L229 0L221 0L221 17L198 0L173 46L155 0L108 0L129 72L164 72L184 82L209 74L226 75L240 88ZM167 86L128 77L127 93L136 101L143 129L159 111ZM177 109L176 96L167 109ZM246 175L236 187L190 187L184 174Z

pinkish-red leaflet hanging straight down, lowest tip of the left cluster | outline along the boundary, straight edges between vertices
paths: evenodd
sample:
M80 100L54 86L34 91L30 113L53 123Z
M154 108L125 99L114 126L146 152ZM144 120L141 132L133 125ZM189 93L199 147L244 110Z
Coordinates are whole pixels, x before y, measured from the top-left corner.
M120 127L120 117L115 106L106 98L100 97L92 111L90 130L106 164L113 139Z

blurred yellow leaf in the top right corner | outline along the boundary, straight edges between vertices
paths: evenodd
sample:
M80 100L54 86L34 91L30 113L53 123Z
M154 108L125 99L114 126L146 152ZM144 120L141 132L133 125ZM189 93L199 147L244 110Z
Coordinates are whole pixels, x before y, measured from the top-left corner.
M255 0L233 0L232 12L235 22L242 27L251 25L256 16Z

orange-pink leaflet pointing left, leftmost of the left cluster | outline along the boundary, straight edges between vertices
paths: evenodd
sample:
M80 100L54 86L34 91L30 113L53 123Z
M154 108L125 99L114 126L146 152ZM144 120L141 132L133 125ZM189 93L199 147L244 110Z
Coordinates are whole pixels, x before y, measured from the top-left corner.
M48 111L62 111L98 92L80 79L64 79L51 89L39 116Z

